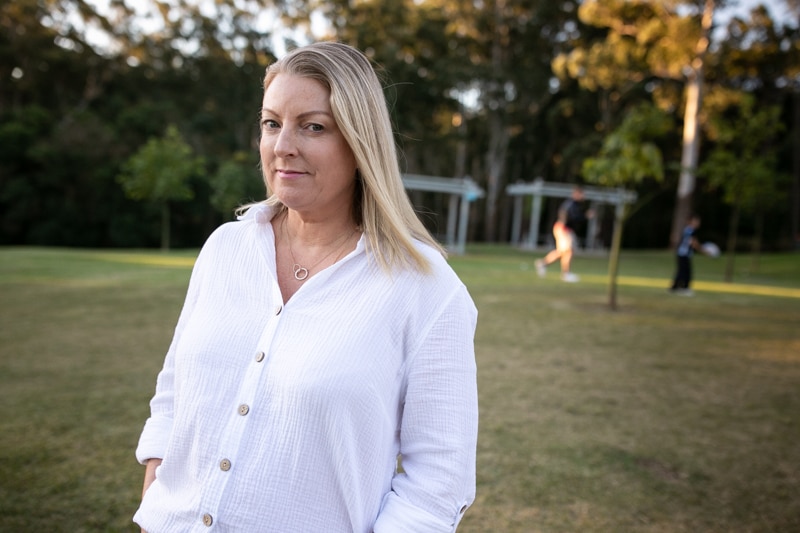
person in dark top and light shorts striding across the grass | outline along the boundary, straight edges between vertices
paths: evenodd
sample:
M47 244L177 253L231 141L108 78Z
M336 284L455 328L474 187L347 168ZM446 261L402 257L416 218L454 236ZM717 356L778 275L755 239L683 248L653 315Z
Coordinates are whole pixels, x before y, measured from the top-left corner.
M562 280L574 283L580 279L570 270L572 256L578 243L575 230L586 222L587 218L594 216L592 210L586 209L584 204L583 189L576 186L572 189L571 197L564 200L558 208L558 217L553 224L556 247L543 259L537 259L534 263L539 277L543 278L547 274L547 265L560 261Z

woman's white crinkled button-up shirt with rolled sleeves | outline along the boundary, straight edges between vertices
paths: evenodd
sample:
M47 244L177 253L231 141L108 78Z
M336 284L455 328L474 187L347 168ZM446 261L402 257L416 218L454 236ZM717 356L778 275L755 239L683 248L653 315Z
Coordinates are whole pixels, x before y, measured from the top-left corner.
M455 531L475 495L477 311L441 255L356 249L283 305L273 211L201 250L136 456L149 533ZM398 469L397 458L402 457Z

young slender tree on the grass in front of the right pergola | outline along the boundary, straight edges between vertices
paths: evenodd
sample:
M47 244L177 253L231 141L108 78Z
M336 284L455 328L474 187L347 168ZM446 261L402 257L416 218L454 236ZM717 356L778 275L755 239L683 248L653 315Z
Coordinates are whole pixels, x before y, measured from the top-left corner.
M583 177L590 183L622 187L642 182L647 178L664 179L664 164L658 146L645 139L663 136L672 128L669 117L649 104L631 109L622 124L603 142L596 157L583 165ZM640 208L638 204L636 209ZM622 248L622 232L626 214L623 204L615 211L614 233L608 263L608 305L617 309L617 275Z

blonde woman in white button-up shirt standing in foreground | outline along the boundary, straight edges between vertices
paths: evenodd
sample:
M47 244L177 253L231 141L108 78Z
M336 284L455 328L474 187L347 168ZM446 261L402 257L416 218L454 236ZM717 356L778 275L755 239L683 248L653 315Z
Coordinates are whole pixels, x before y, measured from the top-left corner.
M477 312L408 201L364 55L317 43L270 66L260 153L269 198L192 272L134 521L455 531L475 491Z

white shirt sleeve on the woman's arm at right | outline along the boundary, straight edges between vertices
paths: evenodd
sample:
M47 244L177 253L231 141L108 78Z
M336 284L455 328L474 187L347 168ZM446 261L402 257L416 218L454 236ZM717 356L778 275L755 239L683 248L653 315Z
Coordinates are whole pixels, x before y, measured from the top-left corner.
M375 533L453 532L475 499L477 310L461 285L433 319L407 368L402 472Z

